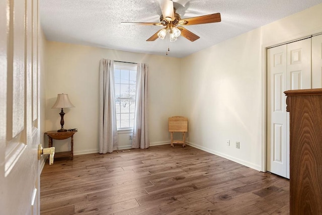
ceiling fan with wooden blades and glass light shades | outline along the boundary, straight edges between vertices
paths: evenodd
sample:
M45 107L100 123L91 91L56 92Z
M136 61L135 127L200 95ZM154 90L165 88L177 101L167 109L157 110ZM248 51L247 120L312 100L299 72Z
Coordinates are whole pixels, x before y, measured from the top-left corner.
M164 39L166 36L169 36L170 41L176 41L177 37L182 35L193 42L200 37L182 26L216 23L221 21L220 13L181 19L180 15L176 13L176 9L173 7L172 0L159 0L159 2L162 11L159 23L122 22L122 24L164 26L164 28L158 30L146 41L154 41L157 38Z

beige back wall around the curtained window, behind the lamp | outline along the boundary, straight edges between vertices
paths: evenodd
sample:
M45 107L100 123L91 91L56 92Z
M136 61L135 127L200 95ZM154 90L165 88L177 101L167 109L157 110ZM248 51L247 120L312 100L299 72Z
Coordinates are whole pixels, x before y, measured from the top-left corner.
M74 135L74 154L98 152L99 62L102 58L148 64L150 143L169 142L168 117L180 114L178 58L49 41L46 46L46 130L60 128L60 110L51 107L58 93L68 94L75 108L64 109L64 128L78 129ZM129 148L130 144L128 133L119 134L120 149ZM54 147L56 152L67 151L68 140L54 140Z

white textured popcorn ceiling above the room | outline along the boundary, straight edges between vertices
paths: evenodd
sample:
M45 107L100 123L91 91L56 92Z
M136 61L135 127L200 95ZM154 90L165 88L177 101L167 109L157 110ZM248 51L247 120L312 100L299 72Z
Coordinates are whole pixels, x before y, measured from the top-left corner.
M180 36L168 56L184 57L209 46L321 4L322 0L174 0L181 18L220 13L220 23L185 26L200 36ZM160 26L121 22L159 22L158 0L41 0L40 20L47 40L165 55L168 43L146 42Z

